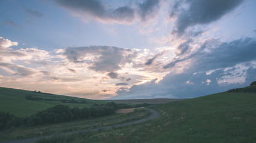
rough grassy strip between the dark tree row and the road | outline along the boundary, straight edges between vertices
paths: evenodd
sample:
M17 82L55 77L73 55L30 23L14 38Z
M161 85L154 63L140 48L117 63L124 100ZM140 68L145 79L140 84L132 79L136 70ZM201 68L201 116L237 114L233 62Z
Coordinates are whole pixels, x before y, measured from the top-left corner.
M150 116L150 112L135 108L134 112L127 114L112 114L110 116L95 117L89 119L73 120L70 122L54 123L50 125L22 126L0 131L0 142L35 136L53 135L59 133L76 132L79 130L102 128L104 126L116 125L119 123L131 122Z

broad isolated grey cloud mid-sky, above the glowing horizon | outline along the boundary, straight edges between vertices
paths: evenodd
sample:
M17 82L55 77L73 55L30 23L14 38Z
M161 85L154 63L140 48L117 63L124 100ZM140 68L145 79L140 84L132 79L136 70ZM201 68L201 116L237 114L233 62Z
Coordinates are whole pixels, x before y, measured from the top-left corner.
M65 48L64 55L74 63L89 63L92 70L113 72L121 69L125 63L131 63L137 57L137 52L114 46L83 46ZM86 56L96 57L91 61L81 60Z

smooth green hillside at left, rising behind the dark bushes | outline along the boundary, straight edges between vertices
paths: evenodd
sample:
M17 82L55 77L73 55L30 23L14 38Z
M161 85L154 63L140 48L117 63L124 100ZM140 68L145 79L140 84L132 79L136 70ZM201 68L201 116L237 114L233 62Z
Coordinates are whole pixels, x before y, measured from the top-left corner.
M30 100L26 97L32 97ZM34 100L33 100L34 99ZM58 104L69 107L90 107L92 104L105 104L104 101L88 100L63 95L32 92L21 89L0 88L0 111L10 112L18 117L27 117L37 111L53 107Z

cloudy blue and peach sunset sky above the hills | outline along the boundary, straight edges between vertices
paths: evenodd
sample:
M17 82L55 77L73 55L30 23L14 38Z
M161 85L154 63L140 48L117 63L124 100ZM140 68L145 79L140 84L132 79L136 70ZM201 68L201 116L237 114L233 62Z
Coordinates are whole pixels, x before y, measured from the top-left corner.
M194 98L256 80L254 0L3 0L0 86Z

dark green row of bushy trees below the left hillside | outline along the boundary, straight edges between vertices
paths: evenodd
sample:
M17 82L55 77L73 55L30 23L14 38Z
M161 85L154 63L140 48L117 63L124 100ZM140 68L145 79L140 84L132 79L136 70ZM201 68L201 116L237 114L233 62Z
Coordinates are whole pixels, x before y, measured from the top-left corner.
M146 105L149 104L128 105L108 102L105 105L94 104L90 108L70 108L67 105L56 105L46 110L38 111L29 117L16 117L10 113L0 112L0 130L108 116L114 114L115 110L119 108L144 107Z

